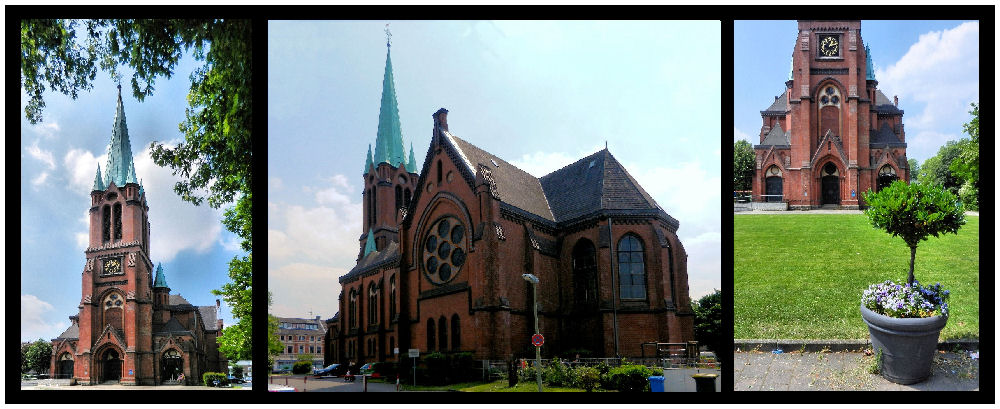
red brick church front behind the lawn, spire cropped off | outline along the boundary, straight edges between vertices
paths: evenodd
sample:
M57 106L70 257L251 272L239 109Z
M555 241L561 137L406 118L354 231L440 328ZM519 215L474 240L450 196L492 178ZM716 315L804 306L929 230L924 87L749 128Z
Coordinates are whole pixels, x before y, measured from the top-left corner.
M910 179L903 110L878 89L861 22L799 21L784 92L760 111L755 200L857 209Z

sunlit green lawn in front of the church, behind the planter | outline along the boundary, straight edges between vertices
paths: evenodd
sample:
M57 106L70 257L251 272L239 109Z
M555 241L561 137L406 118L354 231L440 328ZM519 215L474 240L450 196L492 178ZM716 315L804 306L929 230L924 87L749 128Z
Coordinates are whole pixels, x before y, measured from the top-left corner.
M737 215L733 232L737 339L866 339L861 292L909 270L903 240L864 215ZM978 216L921 242L914 276L951 291L941 339L979 338Z

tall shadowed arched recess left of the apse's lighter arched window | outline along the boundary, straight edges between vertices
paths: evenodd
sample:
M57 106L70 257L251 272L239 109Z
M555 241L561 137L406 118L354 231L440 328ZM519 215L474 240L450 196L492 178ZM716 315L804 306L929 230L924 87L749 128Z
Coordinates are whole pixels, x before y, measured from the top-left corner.
M597 250L594 243L580 239L573 247L573 309L566 326L566 352L600 355L603 353L599 304L597 299ZM572 358L572 356L570 357Z

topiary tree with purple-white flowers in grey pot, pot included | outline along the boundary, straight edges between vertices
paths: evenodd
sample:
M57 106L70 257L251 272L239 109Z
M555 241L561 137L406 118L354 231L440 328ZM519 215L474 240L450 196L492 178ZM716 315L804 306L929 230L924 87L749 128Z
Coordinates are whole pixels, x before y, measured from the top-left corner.
M861 296L861 318L868 324L872 348L881 359L884 378L900 383L930 376L938 336L948 321L948 291L941 283L922 286L913 276L917 245L927 236L958 233L965 211L955 195L940 186L895 181L863 195L872 226L898 236L910 247L906 284L872 284Z

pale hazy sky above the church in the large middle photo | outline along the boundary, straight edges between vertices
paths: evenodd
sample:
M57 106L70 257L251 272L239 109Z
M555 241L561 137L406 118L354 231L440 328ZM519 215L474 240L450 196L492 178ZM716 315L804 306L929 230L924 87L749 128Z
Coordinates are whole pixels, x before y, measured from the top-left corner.
M354 266L385 21L268 24L268 286L278 316L333 316ZM680 220L692 298L721 288L720 23L391 22L403 138L431 114L535 176L604 148Z

